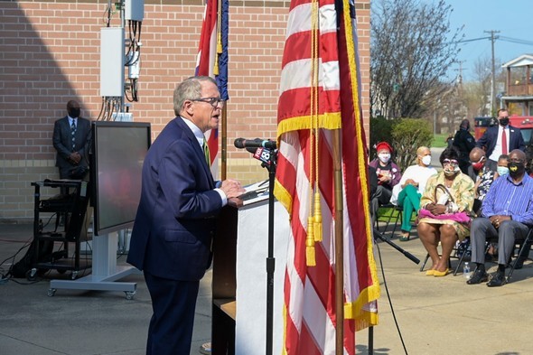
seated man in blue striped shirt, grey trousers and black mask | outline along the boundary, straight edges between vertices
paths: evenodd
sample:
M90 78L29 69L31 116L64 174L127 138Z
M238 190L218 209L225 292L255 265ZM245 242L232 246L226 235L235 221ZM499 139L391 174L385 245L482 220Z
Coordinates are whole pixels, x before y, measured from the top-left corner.
M526 154L515 149L509 154L509 174L492 182L482 203L482 217L472 221L472 261L477 265L468 285L488 280L484 264L486 238L498 238L498 271L488 286L505 284L505 266L515 246L533 225L533 178L526 173Z

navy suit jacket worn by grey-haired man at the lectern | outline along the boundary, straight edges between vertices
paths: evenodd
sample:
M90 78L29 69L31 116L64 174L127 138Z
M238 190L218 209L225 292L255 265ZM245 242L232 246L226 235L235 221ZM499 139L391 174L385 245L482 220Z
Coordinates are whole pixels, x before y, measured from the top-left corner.
M127 262L172 280L200 280L222 207L205 155L181 117L164 127L143 165Z

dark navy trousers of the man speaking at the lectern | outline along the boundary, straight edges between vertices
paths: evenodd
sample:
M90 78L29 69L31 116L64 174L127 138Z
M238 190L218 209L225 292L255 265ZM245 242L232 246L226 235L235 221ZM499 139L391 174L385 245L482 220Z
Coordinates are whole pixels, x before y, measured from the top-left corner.
M189 354L200 281L169 280L147 272L145 281L154 310L146 355Z

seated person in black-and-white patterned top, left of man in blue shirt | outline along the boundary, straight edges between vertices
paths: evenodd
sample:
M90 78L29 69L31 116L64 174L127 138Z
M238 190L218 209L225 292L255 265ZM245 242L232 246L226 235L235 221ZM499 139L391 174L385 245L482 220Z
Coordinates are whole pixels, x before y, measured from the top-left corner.
M479 215L479 210L482 207L482 201L489 192L491 183L494 181L497 164L491 160L487 160L485 151L482 148L475 147L470 152L470 166L468 167L468 176L474 182L474 202L473 211Z

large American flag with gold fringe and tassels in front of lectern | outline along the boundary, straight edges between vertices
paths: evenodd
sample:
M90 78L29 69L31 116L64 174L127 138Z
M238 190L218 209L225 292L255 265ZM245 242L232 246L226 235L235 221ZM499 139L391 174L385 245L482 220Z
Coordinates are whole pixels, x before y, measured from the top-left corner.
M275 188L291 219L284 291L284 353L289 355L335 353L339 326L344 337L337 353L355 354L355 332L378 322L357 61L351 0L291 1ZM335 235L338 217L341 236ZM335 259L334 238L342 238L342 260ZM338 261L344 270L341 324L335 312Z

